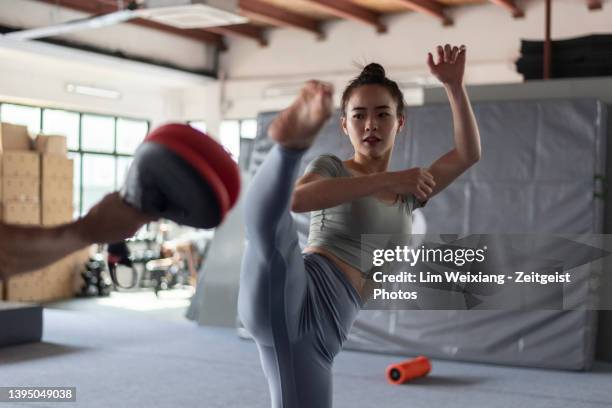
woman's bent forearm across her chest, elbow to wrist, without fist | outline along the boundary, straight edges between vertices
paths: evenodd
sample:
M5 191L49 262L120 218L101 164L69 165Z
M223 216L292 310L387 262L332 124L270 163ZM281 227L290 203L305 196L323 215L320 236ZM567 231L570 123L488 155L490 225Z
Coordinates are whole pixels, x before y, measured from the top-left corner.
M326 178L303 184L293 192L291 211L316 211L376 194L390 187L388 174Z

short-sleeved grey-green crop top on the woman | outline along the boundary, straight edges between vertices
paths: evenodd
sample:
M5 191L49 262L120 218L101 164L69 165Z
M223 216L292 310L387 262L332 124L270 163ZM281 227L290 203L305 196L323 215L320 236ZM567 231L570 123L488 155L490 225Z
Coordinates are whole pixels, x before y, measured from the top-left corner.
M342 161L334 155L314 159L305 173L325 177L352 177ZM369 276L372 250L384 248L390 234L410 234L412 211L421 206L413 196L404 196L393 204L375 197L362 197L331 208L310 213L308 246L324 247L332 254ZM364 239L362 234L377 234ZM365 237L364 237L365 238ZM383 239L385 242L381 242ZM362 253L363 251L363 253ZM363 262L363 265L362 265Z

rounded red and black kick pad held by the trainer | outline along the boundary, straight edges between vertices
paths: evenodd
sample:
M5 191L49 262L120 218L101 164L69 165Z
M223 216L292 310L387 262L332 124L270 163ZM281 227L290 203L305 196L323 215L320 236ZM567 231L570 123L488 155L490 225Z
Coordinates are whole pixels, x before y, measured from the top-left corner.
M188 125L171 123L149 133L138 147L121 196L145 214L213 228L239 192L238 165L224 148Z

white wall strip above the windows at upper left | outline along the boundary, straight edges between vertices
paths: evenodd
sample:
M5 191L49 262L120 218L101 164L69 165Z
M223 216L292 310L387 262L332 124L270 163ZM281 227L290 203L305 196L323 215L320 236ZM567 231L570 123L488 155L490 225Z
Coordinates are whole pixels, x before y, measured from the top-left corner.
M0 101L147 119L183 120L183 92L211 79L36 42L0 39ZM68 83L119 91L118 100L67 92Z

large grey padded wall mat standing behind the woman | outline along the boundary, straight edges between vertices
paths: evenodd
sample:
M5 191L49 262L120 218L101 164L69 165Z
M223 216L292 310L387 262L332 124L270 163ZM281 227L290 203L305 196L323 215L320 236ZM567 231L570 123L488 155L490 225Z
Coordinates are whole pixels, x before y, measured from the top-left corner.
M474 104L483 158L424 208L427 232L599 233L603 203L594 176L605 169L605 105L593 99ZM249 172L265 157L274 113L258 118ZM447 104L411 107L391 170L428 166L452 147ZM322 153L345 159L351 146L338 114L322 129L302 169ZM296 214L300 241L308 215ZM430 357L587 369L593 360L590 311L368 311L355 322L348 348Z

